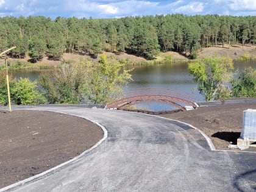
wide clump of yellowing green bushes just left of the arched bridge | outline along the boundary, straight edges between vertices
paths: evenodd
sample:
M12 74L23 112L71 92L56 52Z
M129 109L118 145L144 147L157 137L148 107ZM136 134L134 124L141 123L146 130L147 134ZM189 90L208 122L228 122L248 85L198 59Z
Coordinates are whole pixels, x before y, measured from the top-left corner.
M122 94L122 85L131 79L123 63L108 62L102 55L98 63L63 64L61 69L40 76L40 84L51 104L107 104Z

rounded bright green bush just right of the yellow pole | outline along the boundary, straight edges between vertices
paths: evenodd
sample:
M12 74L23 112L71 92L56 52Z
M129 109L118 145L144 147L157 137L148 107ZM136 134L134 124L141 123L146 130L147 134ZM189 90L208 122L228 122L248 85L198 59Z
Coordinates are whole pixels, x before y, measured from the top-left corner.
M31 82L27 78L21 78L10 90L12 101L18 105L38 105L44 104L46 99L37 90L37 82Z

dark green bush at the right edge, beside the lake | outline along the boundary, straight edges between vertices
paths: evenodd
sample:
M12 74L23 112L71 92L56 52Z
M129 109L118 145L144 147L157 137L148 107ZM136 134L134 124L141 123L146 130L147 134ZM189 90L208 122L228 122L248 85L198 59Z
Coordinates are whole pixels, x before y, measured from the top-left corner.
M244 69L231 83L233 97L256 97L256 69Z

